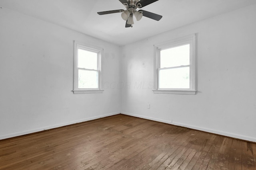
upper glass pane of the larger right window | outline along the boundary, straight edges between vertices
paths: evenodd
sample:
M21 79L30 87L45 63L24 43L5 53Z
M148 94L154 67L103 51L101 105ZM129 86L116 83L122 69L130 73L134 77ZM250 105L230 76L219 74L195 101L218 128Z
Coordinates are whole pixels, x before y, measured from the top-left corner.
M160 51L160 68L190 64L190 45Z

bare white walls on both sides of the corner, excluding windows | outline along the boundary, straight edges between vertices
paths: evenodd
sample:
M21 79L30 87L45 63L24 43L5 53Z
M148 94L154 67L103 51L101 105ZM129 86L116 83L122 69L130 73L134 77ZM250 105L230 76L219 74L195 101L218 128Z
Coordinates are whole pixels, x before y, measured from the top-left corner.
M256 142L256 5L118 47L0 9L0 139L122 113ZM154 94L154 44L197 33L196 95ZM73 41L104 48L73 94ZM150 109L147 109L147 104Z

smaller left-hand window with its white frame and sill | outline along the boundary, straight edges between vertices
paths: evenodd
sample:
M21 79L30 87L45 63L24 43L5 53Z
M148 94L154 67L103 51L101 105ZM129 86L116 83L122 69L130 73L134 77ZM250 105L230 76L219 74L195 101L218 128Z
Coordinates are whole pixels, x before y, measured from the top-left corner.
M100 59L103 49L74 42L74 94L102 93Z

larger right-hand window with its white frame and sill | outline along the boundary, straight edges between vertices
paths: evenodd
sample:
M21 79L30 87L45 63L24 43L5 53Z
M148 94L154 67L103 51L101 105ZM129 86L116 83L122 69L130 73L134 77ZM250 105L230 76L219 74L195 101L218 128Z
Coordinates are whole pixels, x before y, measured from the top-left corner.
M196 94L195 37L155 45L154 93Z

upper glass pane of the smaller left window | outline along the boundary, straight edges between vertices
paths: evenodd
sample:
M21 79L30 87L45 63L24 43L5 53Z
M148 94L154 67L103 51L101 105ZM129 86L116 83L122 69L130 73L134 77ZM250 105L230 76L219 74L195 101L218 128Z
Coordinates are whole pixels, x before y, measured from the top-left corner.
M98 53L78 49L78 68L98 69Z

